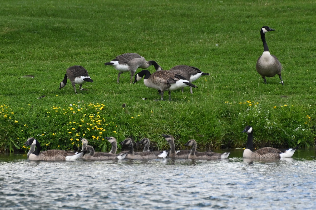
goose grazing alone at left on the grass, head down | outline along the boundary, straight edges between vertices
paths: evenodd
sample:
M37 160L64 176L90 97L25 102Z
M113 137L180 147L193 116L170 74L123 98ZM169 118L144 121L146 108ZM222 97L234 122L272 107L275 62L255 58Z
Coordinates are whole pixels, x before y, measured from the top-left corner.
M66 70L64 80L60 83L59 90L67 84L67 78L70 80L72 87L74 87L76 94L76 84L80 84L79 89L82 90L81 87L83 83L93 82L85 68L82 66L71 66Z

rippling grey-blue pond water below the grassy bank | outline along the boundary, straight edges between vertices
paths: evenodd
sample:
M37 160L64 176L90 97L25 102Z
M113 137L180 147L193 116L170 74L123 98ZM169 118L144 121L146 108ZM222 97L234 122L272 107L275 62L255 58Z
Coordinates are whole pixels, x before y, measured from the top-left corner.
M0 209L315 209L315 150L248 160L29 161L0 155Z

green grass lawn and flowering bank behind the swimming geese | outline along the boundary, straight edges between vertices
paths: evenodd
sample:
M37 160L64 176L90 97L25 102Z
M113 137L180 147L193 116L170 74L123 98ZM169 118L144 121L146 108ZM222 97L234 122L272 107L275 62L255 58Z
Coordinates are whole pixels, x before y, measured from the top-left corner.
M240 132L247 124L258 147L315 146L313 1L3 0L0 8L2 152L27 150L28 137L44 149L77 149L83 134L98 150L109 149L105 136L148 137L167 148L162 133L174 135L181 148L191 138L203 149L235 148L245 145ZM284 86L277 76L265 85L255 70L264 25L276 30L266 40L283 64ZM104 66L126 52L163 69L185 64L210 76L194 82L193 95L186 88L173 91L171 102L155 101L155 89L130 84L129 73L116 84L118 71ZM76 95L70 83L58 89L72 65L88 70L94 80L84 85L88 91ZM70 104L82 110L73 114Z

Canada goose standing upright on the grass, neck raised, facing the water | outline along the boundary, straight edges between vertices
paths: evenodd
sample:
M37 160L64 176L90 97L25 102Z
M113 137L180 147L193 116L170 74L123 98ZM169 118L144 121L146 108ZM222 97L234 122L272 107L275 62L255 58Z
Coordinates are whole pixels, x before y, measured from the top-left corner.
M260 35L263 43L263 53L257 60L256 69L257 72L262 76L265 84L267 84L267 80L265 79L266 76L274 77L277 74L279 75L279 78L281 80L280 83L284 85L281 77L282 65L274 55L270 54L267 42L264 38L264 34L268 31L274 31L274 29L268 26L263 26L260 30Z

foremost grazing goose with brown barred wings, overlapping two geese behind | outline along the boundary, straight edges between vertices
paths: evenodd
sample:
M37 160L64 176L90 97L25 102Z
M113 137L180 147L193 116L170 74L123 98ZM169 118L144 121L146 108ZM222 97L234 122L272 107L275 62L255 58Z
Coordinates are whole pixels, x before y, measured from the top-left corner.
M156 71L152 74L145 69L135 75L135 84L137 81L140 81L144 77L144 84L146 87L155 88L158 91L161 91L161 100L163 100L163 92L165 90L169 91L169 101L171 101L171 91L179 89L181 87L196 87L191 84L183 76L174 74L171 71Z

